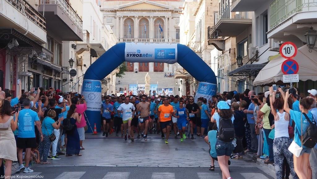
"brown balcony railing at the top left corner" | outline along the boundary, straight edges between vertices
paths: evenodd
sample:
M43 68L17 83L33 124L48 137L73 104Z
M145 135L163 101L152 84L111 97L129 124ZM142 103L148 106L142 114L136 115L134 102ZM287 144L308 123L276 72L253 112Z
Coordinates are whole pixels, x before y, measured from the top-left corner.
M26 0L6 0L11 3L17 10L26 14L26 16L35 24L46 30L45 18L35 10ZM24 11L23 11L24 10Z

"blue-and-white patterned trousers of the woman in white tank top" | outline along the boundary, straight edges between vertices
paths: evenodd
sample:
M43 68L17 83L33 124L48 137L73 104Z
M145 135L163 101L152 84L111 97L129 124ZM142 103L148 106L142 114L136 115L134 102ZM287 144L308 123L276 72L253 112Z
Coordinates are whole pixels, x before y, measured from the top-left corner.
M291 145L291 140L289 137L279 137L273 141L276 179L282 179L284 157L286 158L289 168L291 169L293 179L299 179L294 171L293 154L288 150L289 145Z

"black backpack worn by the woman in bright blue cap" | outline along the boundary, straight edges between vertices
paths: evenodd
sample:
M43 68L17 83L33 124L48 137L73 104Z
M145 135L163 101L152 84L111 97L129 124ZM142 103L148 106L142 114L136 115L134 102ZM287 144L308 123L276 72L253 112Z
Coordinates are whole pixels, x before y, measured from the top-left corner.
M231 119L219 119L218 139L224 142L231 142L235 138L235 129Z

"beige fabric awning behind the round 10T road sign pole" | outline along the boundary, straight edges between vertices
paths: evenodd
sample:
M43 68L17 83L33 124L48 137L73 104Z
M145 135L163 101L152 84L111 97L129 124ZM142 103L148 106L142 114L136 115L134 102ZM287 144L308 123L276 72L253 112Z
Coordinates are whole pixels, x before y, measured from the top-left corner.
M299 64L299 79L306 81L308 79L317 81L317 51L308 52L307 45L300 47L296 57L293 59ZM277 57L268 62L267 65L259 72L253 81L253 86L265 86L271 83L283 83L283 72L281 70L282 63L285 61L283 57Z

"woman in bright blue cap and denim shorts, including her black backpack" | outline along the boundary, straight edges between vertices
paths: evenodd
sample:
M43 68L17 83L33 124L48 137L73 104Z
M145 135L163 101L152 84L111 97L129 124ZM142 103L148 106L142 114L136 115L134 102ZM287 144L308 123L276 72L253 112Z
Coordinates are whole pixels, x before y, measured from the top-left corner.
M228 161L235 146L235 129L233 127L234 115L229 105L225 101L219 101L217 112L211 117L211 122L217 123L216 152L218 163L222 171L223 179L232 179L229 172Z

